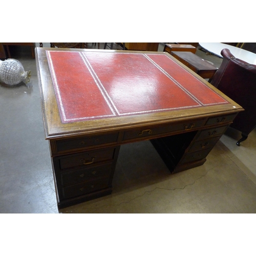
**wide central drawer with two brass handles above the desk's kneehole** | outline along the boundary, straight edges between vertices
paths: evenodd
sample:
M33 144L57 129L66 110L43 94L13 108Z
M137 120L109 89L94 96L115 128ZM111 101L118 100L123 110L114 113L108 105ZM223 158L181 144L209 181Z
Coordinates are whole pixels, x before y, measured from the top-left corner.
M127 131L123 134L123 140L139 139L148 137L149 139L153 136L171 133L175 131L189 132L199 129L204 124L205 119L200 119L196 121L186 122L186 123L176 123L168 124L163 126L145 127L142 129L137 129L133 131Z

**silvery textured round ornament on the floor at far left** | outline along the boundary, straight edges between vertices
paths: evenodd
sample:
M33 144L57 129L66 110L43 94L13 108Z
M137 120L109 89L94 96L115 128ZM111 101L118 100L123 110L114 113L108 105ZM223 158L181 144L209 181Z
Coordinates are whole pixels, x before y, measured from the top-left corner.
M0 60L0 80L9 86L14 86L22 81L30 81L30 71L25 71L22 63L16 59Z

